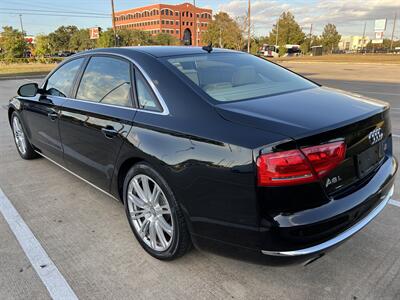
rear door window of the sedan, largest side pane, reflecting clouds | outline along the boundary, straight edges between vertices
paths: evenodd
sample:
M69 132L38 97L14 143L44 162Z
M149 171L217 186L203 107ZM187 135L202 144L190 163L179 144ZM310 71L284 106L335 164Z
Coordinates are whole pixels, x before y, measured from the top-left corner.
M92 57L83 73L76 98L132 107L130 64L111 57Z

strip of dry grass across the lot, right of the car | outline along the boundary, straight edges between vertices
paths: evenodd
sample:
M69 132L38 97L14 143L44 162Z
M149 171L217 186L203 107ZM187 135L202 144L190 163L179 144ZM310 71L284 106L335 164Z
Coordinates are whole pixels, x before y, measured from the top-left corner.
M335 62L335 63L384 63L400 64L400 54L332 54L322 56L297 56L272 58L275 62Z

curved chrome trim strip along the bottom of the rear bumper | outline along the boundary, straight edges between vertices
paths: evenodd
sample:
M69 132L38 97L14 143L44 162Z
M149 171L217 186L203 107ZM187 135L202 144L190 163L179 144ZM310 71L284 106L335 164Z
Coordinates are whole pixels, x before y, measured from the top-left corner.
M326 251L329 248L335 247L340 243L344 242L346 239L350 238L352 235L360 231L364 228L369 222L371 222L386 206L393 195L394 186L392 186L389 192L386 195L381 196L381 202L378 206L376 206L367 216L365 216L361 221L356 223L354 226L348 228L338 236L320 243L318 245L298 249L298 250L291 250L291 251L268 251L268 250L261 250L262 254L271 255L271 256L283 256L283 257L293 257L293 256L309 256L318 254L321 252Z

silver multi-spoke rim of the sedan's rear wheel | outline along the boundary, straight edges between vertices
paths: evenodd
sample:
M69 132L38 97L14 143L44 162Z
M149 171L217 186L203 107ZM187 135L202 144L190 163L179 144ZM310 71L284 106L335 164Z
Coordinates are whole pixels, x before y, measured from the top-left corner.
M132 223L142 240L156 251L171 245L173 219L160 186L147 175L136 175L128 186L128 208Z

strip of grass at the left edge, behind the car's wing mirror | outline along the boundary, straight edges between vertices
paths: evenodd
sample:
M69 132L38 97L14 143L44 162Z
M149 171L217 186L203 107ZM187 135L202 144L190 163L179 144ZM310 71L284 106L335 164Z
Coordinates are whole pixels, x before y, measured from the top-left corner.
M41 64L41 63L17 63L4 64L0 63L0 77L14 75L34 75L49 73L57 64Z

